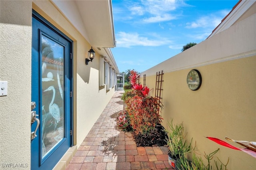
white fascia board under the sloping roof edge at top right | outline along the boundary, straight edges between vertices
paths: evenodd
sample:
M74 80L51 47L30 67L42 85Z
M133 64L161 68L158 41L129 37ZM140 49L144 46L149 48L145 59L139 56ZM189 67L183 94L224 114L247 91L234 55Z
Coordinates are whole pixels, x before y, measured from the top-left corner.
M250 6L254 4L254 2L254 0L242 0L208 38L232 26L250 8Z

